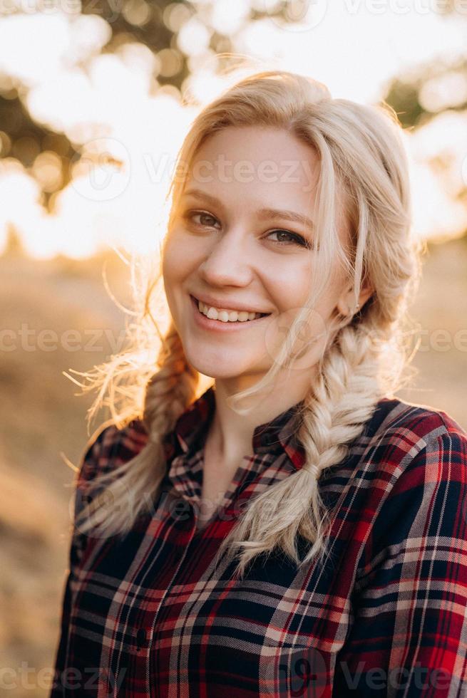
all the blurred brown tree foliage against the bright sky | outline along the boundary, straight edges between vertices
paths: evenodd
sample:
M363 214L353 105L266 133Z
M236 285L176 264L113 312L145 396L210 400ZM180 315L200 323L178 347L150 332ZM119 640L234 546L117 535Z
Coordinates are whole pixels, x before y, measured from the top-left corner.
M438 11L456 11L456 0L435 0ZM38 0L39 3L39 0ZM43 4L43 0L42 0ZM14 0L0 8L0 17L21 14L22 3ZM31 14L34 0L29 0L27 11ZM41 6L41 3L39 3ZM155 58L153 87L157 91L164 85L172 85L183 91L185 80L193 68L190 44L201 37L205 54L217 56L219 68L228 63L226 53L235 51L237 34L249 23L265 17L276 17L283 23L293 21L287 0L276 4L265 0L250 0L246 10L238 14L240 21L220 18L220 5L216 0L83 0L81 14L96 15L106 21L108 41L103 53L115 53L130 43L143 44ZM38 9L37 11L40 11ZM235 13L234 13L235 14ZM71 16L73 22L79 15ZM295 18L297 19L297 18ZM186 37L190 41L186 41ZM200 38L200 41L201 41ZM219 56L219 54L224 54ZM86 71L87 61L76 63ZM34 168L36 156L44 151L56 154L53 162L56 175L48 182L39 181L42 204L51 209L53 194L66 187L71 177L70 164L80 159L78 144L73 144L65 133L34 120L27 108L28 87L21 80L0 71L0 163L1 158L14 157L24 165L29 174L38 179ZM467 108L467 61L456 65L435 64L422 66L418 73L403 78L398 76L389 84L385 95L406 128L416 128L437 113L446 109Z

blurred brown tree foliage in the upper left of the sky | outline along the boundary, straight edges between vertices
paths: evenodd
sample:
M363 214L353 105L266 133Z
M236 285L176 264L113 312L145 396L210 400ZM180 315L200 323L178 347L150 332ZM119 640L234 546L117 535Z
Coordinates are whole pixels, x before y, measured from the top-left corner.
M265 3L250 2L250 11L242 17L241 26L237 26L235 31L231 31L228 22L225 29L220 31L222 23L214 18L215 0L205 0L199 4L184 0L158 0L157 3L146 0L83 0L81 13L100 16L110 26L110 38L103 46L103 53L113 53L123 44L142 43L156 57L156 88L173 85L180 90L190 75L190 55L178 39L180 30L190 20L195 21L198 31L200 26L205 27L208 36L206 50L211 55L235 50L235 34L251 21L265 16L281 16L287 21L287 3L278 2L274 10ZM29 14L32 5L34 2L28 3ZM12 2L3 13L4 16L21 14L21 3L15 7ZM80 65L86 69L86 61ZM31 165L36 155L43 150L55 152L61 160L61 177L56 177L56 181L47 188L39 182L43 191L42 203L50 208L53 194L69 182L71 160L78 162L80 154L65 134L57 133L31 117L26 106L27 94L26 85L0 71L0 162L2 157L15 157L29 170L29 174L35 176Z

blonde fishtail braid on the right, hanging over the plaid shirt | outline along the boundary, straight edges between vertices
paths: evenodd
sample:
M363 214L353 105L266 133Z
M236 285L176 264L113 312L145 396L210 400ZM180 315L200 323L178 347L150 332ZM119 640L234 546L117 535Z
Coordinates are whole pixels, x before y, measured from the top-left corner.
M327 553L324 538L327 511L319 495L324 469L342 462L347 445L359 436L374 411L381 389L378 363L369 350L361 325L347 325L324 355L317 382L304 399L297 439L304 446L302 469L257 496L222 541L227 561L242 548L237 573L258 553L270 552L272 542L299 563L297 533L313 543L302 564ZM235 533L234 533L235 531Z

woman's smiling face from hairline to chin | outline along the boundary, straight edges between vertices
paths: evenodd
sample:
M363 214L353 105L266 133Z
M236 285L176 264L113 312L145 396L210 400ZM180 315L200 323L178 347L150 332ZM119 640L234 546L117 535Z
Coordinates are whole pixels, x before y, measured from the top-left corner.
M203 375L226 381L229 392L267 373L284 328L306 304L319 265L312 226L318 175L314 150L270 127L217 132L190 167L164 241L165 293L189 363ZM340 211L338 229L348 244ZM327 326L337 304L346 312L348 291L349 278L336 264L315 308L315 329ZM193 297L228 312L210 311L208 320ZM266 315L235 321L231 309ZM227 318L234 322L223 322ZM295 377L302 374L306 380L318 358L308 359Z

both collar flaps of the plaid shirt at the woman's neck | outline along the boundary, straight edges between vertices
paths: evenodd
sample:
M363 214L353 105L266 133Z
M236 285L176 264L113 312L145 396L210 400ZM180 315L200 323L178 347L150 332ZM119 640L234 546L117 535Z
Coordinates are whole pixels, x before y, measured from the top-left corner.
M252 451L255 454L272 453L277 455L285 452L294 468L300 469L305 461L305 451L297 439L297 430L303 404L304 401L300 400L270 422L255 427L252 437ZM170 443L175 449L175 453L173 452L172 455L195 453L196 449L200 447L202 437L207 432L214 411L215 387L212 385L175 422L173 432L170 434Z

